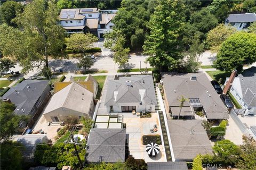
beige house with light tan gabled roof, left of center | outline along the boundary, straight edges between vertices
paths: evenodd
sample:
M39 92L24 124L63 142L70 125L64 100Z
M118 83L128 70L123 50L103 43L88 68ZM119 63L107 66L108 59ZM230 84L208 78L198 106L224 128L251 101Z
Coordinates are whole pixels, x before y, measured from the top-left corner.
M92 117L93 108L93 93L72 82L52 96L43 115L47 122L62 122L69 115Z

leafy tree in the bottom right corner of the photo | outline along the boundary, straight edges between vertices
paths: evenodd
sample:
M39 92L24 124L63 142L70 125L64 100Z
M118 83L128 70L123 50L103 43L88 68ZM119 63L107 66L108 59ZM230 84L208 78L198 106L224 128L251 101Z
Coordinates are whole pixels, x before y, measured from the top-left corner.
M243 136L241 155L236 167L241 170L256 169L256 141L252 137Z

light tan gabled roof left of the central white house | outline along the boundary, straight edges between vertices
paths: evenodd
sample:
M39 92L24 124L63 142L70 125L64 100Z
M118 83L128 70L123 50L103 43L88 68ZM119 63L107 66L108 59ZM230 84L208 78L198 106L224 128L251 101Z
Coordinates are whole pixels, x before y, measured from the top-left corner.
M93 93L79 83L73 82L52 96L44 114L65 107L73 111L86 113L90 109Z

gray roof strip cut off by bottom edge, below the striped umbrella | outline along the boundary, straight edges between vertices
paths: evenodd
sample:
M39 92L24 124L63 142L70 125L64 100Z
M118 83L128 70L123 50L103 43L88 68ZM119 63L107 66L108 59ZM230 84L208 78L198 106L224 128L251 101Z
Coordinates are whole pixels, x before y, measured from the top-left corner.
M188 170L186 162L147 163L148 170Z

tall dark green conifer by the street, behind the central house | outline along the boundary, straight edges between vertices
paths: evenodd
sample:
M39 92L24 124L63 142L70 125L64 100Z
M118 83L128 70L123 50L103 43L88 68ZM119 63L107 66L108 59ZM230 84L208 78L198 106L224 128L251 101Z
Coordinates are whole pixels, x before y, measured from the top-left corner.
M181 26L184 24L182 1L160 1L150 17L144 53L147 61L160 71L172 70L179 64L181 54Z

